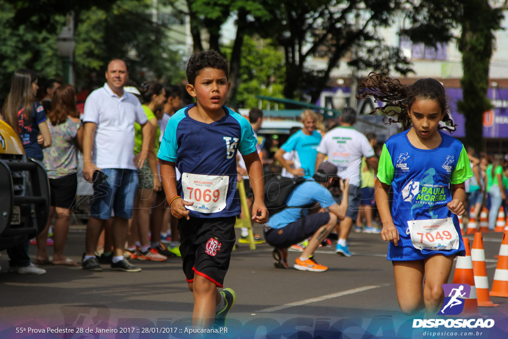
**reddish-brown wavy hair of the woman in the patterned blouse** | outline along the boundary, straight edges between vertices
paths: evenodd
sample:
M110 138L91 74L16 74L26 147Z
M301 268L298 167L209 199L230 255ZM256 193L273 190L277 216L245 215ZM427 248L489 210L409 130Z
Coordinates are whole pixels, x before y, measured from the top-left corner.
M47 118L51 125L63 124L68 116L79 117L76 107L76 90L73 85L65 84L55 89L53 100L51 100L51 112L47 113Z

